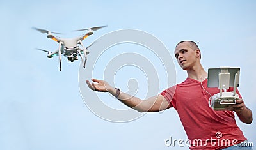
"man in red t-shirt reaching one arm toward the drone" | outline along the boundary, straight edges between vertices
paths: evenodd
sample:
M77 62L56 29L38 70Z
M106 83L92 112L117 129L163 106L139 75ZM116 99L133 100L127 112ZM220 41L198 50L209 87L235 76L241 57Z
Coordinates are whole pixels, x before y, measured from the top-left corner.
M235 105L228 106L227 111L214 111L209 107L208 100L219 89L207 87L207 72L200 63L201 52L196 43L180 41L175 47L175 57L180 67L187 71L188 78L147 100L122 93L103 80L92 79L93 83L88 80L86 82L90 89L108 91L139 112L157 112L174 107L191 141L190 149L252 149L236 146L247 139L236 125L234 112L243 123L252 123L252 111L244 104L239 91L239 100L236 100ZM232 88L229 90L232 91ZM222 133L222 137L218 139L216 133Z

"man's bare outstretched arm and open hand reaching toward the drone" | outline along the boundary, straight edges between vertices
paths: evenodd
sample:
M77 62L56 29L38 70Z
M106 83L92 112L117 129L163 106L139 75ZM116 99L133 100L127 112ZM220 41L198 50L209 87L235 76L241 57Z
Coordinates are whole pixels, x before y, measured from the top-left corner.
M88 87L90 87L90 89L92 89L93 91L109 92L113 95L116 94L116 89L114 87L111 87L108 82L97 79L92 79L92 81L93 82L90 83L88 80L86 80L86 83L88 84ZM169 106L168 101L166 101L164 96L160 94L146 100L141 100L140 98L136 98L135 96L120 92L117 98L128 107L138 110L139 112L158 112L167 109Z

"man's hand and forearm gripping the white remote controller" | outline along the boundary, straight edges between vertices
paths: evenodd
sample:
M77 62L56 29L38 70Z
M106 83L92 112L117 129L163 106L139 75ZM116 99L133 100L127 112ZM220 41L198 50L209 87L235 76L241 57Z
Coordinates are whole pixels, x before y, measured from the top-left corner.
M237 116L243 123L252 123L252 111L246 107L243 99L240 98L239 100L236 100L236 104L229 105L226 109L236 112Z

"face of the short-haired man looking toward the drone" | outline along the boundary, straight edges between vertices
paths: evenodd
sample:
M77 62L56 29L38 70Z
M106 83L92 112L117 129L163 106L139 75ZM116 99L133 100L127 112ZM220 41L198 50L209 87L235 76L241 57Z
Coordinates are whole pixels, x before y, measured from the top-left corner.
M183 70L189 70L196 63L198 53L197 50L193 50L188 41L180 43L175 48L175 57Z

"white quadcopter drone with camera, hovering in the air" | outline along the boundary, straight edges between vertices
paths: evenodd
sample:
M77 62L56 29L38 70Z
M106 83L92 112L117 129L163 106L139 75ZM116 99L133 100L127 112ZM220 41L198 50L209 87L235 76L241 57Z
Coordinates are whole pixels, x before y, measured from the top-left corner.
M92 35L93 31L97 31L98 29L101 29L102 27L107 27L107 26L90 27L87 29L74 30L74 31L87 31L86 34L83 34L83 35L75 37L75 38L60 38L58 36L54 36L53 34L61 34L61 33L51 32L49 30L39 29L36 27L32 27L32 29L35 29L36 31L39 31L40 33L43 33L43 34L47 33L47 38L51 38L52 40L59 43L58 49L54 52L50 52L49 50L44 50L44 49L38 49L38 48L36 48L36 49L42 50L43 52L47 52L48 58L52 58L54 56L59 56L60 71L61 71L61 55L62 54L68 59L68 61L71 61L71 62L78 60L78 55L79 55L81 57L81 61L83 63L83 68L85 68L86 61L87 61L87 55L89 54L88 48L91 47L93 45L93 43L88 45L88 47L84 47L82 41L85 38L87 38L88 36ZM81 45L82 48L79 47L79 45ZM82 54L84 54L84 60L83 60Z

